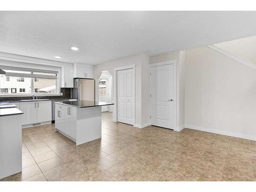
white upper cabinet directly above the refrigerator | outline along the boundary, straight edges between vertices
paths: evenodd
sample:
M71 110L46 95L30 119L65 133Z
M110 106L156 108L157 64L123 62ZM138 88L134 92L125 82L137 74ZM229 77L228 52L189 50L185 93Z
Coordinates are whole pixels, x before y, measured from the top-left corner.
M74 63L74 78L93 79L93 66L82 63Z

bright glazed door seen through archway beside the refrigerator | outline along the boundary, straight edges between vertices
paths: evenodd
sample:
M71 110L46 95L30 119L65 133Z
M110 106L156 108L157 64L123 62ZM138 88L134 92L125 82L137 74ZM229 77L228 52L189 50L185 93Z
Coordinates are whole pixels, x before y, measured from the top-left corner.
M99 101L110 102L108 77L99 78ZM104 112L104 111L109 111L109 106L101 106L101 112Z

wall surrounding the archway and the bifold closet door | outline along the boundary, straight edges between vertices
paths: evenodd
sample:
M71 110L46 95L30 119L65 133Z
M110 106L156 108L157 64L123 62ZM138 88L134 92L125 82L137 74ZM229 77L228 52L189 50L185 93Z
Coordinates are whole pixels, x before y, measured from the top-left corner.
M147 63L147 65L146 65ZM145 126L145 123L149 122L148 115L150 111L150 106L147 104L144 104L150 99L149 90L147 90L147 87L149 87L149 80L146 81L147 71L149 71L148 66L148 57L143 54L134 55L131 57L125 57L121 59L117 59L114 61L109 61L105 63L101 63L99 65L96 65L94 67L94 78L96 82L98 81L102 71L109 71L111 75L113 76L113 83L112 86L114 86L115 79L114 79L114 68L122 67L122 66L129 66L129 65L136 65L135 67L135 124L139 126ZM143 86L142 86L143 82ZM145 92L142 93L142 90ZM96 89L95 92L96 100L98 100L98 90ZM114 91L113 91L113 97ZM143 107L142 107L143 105ZM115 115L115 111L113 111L113 115Z

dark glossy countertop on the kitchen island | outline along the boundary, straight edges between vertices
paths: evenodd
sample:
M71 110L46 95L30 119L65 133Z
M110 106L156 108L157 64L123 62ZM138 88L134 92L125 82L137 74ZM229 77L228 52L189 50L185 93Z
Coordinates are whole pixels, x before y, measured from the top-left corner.
M76 108L92 108L93 106L105 106L105 105L113 105L114 103L109 102L99 102L99 101L56 101L58 104L65 104L69 106L75 106Z

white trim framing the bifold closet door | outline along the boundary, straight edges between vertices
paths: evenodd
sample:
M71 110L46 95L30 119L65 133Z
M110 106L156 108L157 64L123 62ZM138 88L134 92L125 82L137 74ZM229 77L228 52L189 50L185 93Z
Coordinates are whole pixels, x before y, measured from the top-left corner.
M122 66L122 67L118 67L118 68L114 68L114 79L115 79L115 83L114 83L114 111L113 111L113 122L117 122L117 72L121 71L121 70L127 70L127 69L132 69L133 71L133 116L134 116L134 122L133 125L135 125L135 65L130 65L130 66Z

